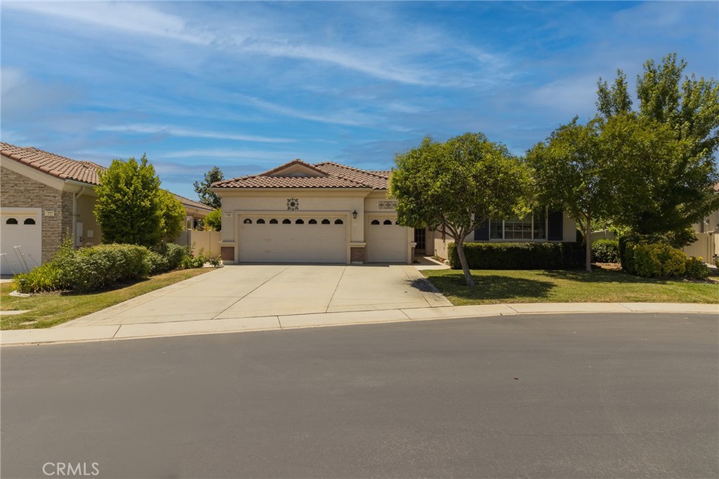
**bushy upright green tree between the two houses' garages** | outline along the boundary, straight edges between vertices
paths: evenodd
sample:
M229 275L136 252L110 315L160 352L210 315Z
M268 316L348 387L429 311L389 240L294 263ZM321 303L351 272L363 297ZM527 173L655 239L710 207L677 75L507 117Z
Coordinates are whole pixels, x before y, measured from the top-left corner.
M130 243L155 246L162 236L160 178L142 155L113 160L100 173L95 216L104 243Z

